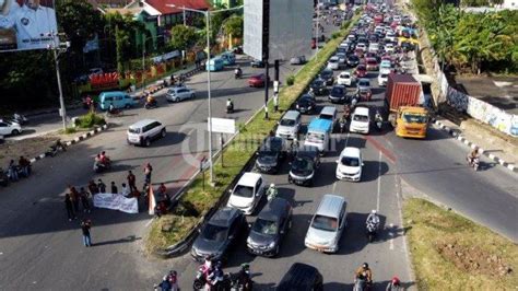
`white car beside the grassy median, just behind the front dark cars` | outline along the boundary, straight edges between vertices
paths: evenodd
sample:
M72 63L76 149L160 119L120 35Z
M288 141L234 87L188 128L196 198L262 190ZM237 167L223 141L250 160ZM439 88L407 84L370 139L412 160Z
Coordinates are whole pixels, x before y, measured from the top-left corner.
M256 206L264 195L264 179L261 174L247 172L231 191L227 207L236 208L246 216L254 213Z

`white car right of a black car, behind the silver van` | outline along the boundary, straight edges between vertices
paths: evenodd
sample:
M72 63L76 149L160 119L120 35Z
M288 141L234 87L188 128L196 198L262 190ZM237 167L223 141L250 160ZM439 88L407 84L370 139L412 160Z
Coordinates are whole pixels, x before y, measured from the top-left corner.
M362 152L358 148L346 147L337 160L337 178L360 182L362 179Z

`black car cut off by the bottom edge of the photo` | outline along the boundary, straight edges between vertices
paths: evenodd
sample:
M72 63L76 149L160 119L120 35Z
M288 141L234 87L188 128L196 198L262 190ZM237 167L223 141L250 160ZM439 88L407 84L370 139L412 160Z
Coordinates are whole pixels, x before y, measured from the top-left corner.
M323 278L317 268L295 263L284 275L276 291L321 291L323 290Z

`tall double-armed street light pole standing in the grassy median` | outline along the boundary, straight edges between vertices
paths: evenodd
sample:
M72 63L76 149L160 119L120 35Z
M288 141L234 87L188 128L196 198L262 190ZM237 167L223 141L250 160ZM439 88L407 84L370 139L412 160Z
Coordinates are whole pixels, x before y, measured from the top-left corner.
M211 13L217 13L217 12L224 12L224 11L231 11L231 10L238 10L242 9L243 5L240 7L235 7L235 8L229 8L229 9L220 9L220 10L212 10L212 11L204 11L204 10L198 10L198 9L191 9L191 8L186 8L186 7L177 7L175 4L167 4L168 7L181 9L185 13L185 11L192 11L192 12L198 12L202 13L205 16L205 22L207 22L207 63L210 63L211 60L211 30L210 30L210 22L211 22ZM210 179L209 183L213 184L214 183L214 170L213 170L213 161L212 161L212 107L211 107L211 70L209 70L209 66L205 66L207 70L207 95L209 100L209 173L210 173Z

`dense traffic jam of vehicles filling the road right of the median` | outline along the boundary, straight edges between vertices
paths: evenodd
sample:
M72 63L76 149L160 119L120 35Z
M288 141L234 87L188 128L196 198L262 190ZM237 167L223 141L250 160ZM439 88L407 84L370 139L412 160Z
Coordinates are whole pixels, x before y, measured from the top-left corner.
M338 11L319 9L321 21ZM386 176L395 161L373 140L392 129L426 137L427 101L411 74L417 33L386 4L348 9L361 10L357 23L201 228L190 249L202 264L195 289L251 290L273 280L276 290L322 290L331 281L398 290L410 280L392 273L407 268L404 254L384 248L404 242L389 242L389 225L400 224L393 178ZM214 280L222 268L237 276Z

